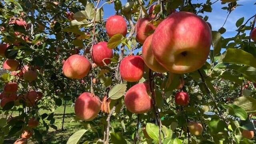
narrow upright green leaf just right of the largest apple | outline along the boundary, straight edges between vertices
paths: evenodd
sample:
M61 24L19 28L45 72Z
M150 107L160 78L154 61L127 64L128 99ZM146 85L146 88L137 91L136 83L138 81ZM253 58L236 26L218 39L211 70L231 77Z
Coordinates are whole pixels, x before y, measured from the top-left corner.
M212 31L212 47L214 49L214 55L216 56L220 53L221 50L221 34L217 31Z

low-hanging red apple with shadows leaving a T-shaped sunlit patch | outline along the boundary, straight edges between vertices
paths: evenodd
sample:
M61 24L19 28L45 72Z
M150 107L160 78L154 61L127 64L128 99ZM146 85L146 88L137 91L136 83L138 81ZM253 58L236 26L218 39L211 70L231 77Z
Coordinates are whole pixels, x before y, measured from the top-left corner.
M90 121L96 118L100 108L100 98L90 92L84 92L76 100L75 114L82 120Z

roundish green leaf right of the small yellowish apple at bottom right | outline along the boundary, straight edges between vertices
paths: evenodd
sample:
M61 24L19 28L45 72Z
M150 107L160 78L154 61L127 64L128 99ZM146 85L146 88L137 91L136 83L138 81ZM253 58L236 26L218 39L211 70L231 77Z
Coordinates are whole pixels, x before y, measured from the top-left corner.
M209 122L209 128L210 131L214 134L217 134L218 132L223 132L226 124L223 120L220 120L219 118L212 118Z

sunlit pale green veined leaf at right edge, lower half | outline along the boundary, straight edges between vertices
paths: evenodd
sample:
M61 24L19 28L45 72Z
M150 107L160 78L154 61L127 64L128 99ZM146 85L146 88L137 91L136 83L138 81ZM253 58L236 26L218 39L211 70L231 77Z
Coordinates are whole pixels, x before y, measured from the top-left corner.
M240 106L246 112L254 112L256 111L256 99L248 97L248 96L241 96L234 100L234 104L236 106Z

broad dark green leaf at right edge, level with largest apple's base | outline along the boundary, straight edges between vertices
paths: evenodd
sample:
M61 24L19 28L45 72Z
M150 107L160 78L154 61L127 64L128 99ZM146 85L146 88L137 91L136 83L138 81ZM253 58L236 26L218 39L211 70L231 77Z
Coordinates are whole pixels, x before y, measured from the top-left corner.
M244 64L256 68L256 58L252 54L237 48L228 49L222 62Z

